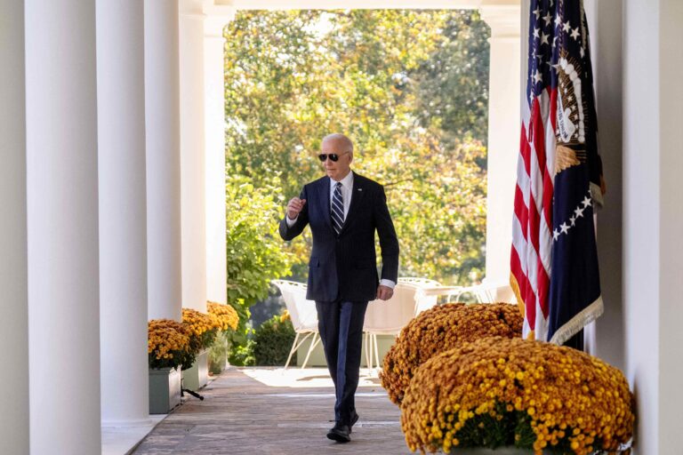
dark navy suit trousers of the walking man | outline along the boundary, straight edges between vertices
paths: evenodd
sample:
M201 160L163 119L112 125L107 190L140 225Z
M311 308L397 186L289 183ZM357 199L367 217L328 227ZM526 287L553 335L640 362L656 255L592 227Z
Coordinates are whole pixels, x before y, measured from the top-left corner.
M325 349L325 360L334 382L334 419L350 425L356 412L363 322L367 302L316 300L317 328Z

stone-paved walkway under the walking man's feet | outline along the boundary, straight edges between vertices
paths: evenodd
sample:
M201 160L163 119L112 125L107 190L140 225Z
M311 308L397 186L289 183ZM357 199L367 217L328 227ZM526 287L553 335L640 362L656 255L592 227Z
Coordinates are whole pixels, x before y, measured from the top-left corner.
M133 453L412 453L401 433L398 407L379 380L366 374L356 395L360 419L347 444L325 437L333 425L328 420L333 419L334 389L324 369L230 368L201 392L203 402L188 397Z

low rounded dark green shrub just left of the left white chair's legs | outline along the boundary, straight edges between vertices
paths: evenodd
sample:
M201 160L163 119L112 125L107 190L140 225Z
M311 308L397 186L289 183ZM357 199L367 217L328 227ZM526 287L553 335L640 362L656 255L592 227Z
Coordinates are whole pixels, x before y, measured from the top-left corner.
M292 348L295 332L285 315L275 315L253 334L253 357L257 365L284 365ZM293 357L293 361L295 358Z

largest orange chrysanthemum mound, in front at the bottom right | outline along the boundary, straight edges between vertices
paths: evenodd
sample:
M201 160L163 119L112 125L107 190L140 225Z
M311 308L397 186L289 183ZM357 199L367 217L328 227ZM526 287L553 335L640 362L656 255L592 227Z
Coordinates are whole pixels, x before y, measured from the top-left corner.
M478 339L424 363L401 404L412 451L516 446L542 453L628 452L633 395L596 357L540 341Z

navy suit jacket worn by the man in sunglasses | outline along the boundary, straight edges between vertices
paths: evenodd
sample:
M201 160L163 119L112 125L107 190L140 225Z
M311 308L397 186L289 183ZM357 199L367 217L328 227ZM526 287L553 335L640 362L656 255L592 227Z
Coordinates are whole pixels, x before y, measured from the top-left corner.
M306 199L291 228L280 221L280 235L292 240L306 225L313 234L306 298L318 301L368 301L377 295L374 232L380 237L382 279L398 281L398 239L391 222L387 197L379 183L353 173L351 204L344 226L336 235L330 219L330 178L303 187Z

